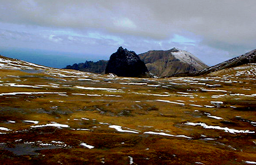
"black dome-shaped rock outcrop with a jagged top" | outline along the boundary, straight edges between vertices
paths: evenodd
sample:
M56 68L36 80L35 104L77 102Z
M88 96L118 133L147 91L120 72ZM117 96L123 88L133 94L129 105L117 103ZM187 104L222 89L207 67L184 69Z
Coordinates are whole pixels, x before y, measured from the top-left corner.
M116 53L110 56L105 73L114 73L121 77L146 77L147 67L135 52L119 47Z

